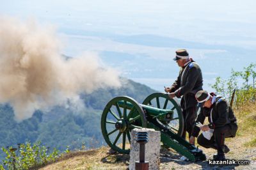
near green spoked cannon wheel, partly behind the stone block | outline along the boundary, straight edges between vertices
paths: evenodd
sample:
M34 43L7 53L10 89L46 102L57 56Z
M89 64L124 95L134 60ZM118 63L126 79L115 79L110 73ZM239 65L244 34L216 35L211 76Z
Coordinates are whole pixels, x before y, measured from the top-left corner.
M124 102L120 107L118 102ZM125 107L127 102L132 108ZM129 153L132 128L145 128L147 121L140 104L131 97L115 97L108 102L101 117L101 130L106 143L119 153ZM122 135L122 137L121 137ZM121 139L122 138L122 139ZM126 146L125 146L126 144Z

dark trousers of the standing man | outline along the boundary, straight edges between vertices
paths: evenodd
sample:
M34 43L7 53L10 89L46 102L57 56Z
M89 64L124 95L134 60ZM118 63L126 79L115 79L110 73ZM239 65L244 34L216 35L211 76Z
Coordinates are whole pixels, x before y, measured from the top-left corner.
M186 139L186 132L188 132L189 137L191 136L196 120L196 110L196 107L189 107L188 109L182 111L184 118L184 131L182 134L183 139Z

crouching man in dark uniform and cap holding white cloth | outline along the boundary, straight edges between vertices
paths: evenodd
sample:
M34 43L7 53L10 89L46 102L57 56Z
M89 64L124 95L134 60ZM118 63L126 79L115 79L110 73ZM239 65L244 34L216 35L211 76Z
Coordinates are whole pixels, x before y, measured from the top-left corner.
M225 153L229 151L225 145L225 138L236 136L236 116L225 98L218 97L214 93L209 94L207 91L200 90L196 93L195 98L198 107L202 107L202 109L196 118L196 126L193 127L189 143L195 144L195 137L198 137L198 144L204 148L214 148L218 151L217 154L214 154L214 160L225 160ZM204 125L205 117L208 117L209 125ZM200 130L203 132L213 131L213 134L206 137L204 132L198 136Z

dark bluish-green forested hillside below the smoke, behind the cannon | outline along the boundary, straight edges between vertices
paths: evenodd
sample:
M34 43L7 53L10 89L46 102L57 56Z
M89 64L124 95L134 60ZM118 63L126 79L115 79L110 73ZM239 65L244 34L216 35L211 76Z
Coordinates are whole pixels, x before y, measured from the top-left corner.
M32 118L17 123L13 118L12 107L0 105L0 148L17 147L19 143L41 141L50 146L49 151L57 148L60 151L75 150L85 145L96 148L104 144L100 130L100 116L105 105L111 98L127 95L142 102L154 93L147 86L122 79L122 88L98 89L91 94L81 94L85 110L74 112L63 106L56 106L49 112L36 111ZM0 151L0 160L4 157ZM1 161L0 161L1 164Z

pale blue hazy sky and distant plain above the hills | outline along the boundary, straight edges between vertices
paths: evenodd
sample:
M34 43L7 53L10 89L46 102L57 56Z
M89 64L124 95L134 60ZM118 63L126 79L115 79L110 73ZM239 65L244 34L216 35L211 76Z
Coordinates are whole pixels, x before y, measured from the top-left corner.
M10 0L1 1L0 15L52 25L61 53L97 52L124 77L163 91L179 73L177 49L201 66L205 89L232 68L256 63L255 7L253 0Z

